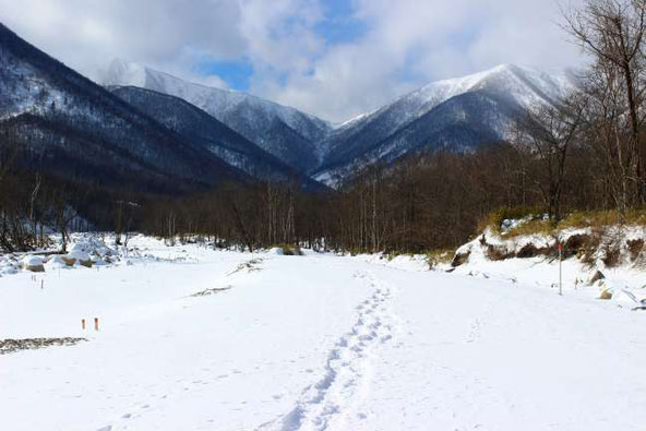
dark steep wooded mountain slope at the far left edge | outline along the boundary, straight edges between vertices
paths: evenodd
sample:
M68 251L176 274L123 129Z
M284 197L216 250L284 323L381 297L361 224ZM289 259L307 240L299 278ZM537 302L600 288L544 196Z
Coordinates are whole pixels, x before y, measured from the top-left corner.
M246 178L1 24L0 136L22 164L108 187L192 191Z

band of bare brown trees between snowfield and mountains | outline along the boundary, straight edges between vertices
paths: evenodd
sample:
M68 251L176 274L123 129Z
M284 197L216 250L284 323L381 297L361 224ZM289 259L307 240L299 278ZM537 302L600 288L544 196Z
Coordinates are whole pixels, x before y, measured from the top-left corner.
M560 205L605 207L594 157L571 149ZM219 247L298 243L345 252L422 252L452 248L501 207L547 208L551 178L530 146L492 143L469 154L415 155L371 166L338 192L311 195L298 184L225 184L180 200L151 202L143 228L168 238L201 236Z

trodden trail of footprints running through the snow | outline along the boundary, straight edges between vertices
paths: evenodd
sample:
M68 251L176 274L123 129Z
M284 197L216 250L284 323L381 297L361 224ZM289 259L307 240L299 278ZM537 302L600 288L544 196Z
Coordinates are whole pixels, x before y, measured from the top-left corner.
M393 288L371 274L357 273L355 277L366 279L373 292L357 306L357 321L327 354L323 375L302 391L287 415L259 430L326 430L352 414L352 404L366 390L364 378L371 371L375 350L391 340L394 325L388 308ZM362 417L361 412L355 414Z

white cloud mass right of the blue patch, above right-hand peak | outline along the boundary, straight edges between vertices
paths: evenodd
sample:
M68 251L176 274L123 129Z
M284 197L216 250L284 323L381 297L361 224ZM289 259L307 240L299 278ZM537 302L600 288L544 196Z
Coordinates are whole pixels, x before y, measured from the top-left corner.
M579 51L559 28L560 9L546 0L359 0L369 32L331 47L313 73L254 89L287 105L343 120L374 109L433 80L500 63L540 69L575 65Z

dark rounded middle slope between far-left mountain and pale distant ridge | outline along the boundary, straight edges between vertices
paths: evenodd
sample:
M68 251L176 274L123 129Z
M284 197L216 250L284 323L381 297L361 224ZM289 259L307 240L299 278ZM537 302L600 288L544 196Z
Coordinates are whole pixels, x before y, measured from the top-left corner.
M297 180L306 190L324 188L179 97L134 86L108 88L179 134L186 142L196 148L207 148L227 164L251 177L268 181Z

